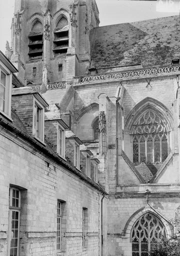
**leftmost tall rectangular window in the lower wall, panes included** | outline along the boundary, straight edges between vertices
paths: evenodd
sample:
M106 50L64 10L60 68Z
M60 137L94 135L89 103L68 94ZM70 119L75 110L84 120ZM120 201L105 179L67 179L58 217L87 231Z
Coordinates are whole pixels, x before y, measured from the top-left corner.
M9 188L8 255L19 254L20 190Z

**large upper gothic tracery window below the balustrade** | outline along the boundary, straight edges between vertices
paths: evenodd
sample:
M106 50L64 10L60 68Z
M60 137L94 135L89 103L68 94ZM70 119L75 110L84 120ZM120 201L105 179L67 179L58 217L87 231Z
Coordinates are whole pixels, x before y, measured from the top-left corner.
M133 124L134 163L160 163L168 152L166 122L153 110L146 110Z

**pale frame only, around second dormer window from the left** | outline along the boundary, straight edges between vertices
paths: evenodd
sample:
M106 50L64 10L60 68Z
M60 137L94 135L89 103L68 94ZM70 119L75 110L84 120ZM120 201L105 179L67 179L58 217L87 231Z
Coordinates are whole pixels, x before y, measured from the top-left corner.
M36 135L36 109L35 105L38 107L39 111L39 118L38 118L38 136ZM35 98L33 98L33 118L32 118L32 135L40 140L41 142L44 142L44 107L43 105Z

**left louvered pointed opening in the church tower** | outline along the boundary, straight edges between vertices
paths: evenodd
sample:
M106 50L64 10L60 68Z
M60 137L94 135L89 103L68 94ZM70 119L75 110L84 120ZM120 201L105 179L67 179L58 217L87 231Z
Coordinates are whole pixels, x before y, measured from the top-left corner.
M42 48L43 48L42 31L43 31L42 23L37 20L33 24L32 29L28 35L29 60L42 58Z

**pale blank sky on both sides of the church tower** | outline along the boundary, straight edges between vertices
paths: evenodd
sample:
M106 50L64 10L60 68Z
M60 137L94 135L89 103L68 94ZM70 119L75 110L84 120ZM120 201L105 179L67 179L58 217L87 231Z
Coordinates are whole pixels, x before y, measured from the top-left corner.
M165 3L167 0L162 1ZM165 12L170 11L171 7L165 4L160 6L160 11L156 11L156 1L96 0L96 2L99 9L100 26L178 14L177 12ZM0 0L0 50L3 52L5 51L6 40L10 41L13 7L14 0ZM174 7L174 4L172 4L172 7L171 11L179 11L179 8Z

